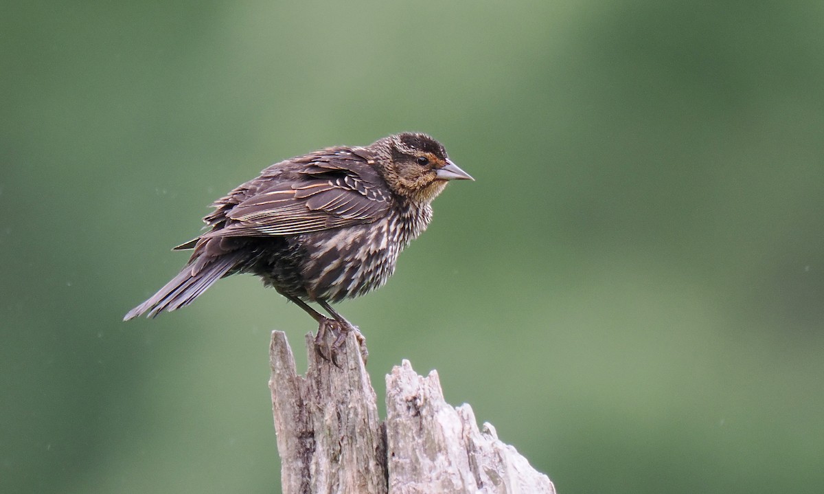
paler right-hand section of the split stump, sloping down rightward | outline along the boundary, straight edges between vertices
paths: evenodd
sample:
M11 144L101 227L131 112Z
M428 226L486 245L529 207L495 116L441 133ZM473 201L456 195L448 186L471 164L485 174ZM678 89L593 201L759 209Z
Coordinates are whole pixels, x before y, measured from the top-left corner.
M469 405L443 399L437 371L424 378L409 360L386 376L386 443L393 494L555 493L493 426L478 430Z

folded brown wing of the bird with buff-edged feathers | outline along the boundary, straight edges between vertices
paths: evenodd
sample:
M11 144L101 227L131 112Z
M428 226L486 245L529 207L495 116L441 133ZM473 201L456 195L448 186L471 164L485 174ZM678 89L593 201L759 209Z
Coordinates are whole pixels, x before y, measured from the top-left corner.
M254 187L254 193L223 209L222 228L201 238L296 235L372 223L391 207L391 195L372 167L357 165L350 160L316 160L308 162L296 179Z

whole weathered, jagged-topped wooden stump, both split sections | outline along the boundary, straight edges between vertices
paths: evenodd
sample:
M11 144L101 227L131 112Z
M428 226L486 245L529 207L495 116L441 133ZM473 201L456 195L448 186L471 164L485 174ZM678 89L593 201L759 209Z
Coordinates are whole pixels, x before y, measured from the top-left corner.
M382 423L355 335L340 367L316 354L311 335L306 343L306 376L283 332L272 333L269 349L283 494L555 494L493 426L479 430L469 405L443 399L436 371L419 376L408 360L393 368Z

